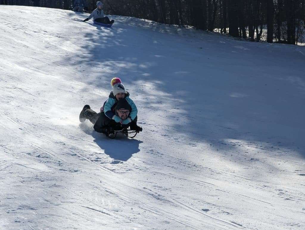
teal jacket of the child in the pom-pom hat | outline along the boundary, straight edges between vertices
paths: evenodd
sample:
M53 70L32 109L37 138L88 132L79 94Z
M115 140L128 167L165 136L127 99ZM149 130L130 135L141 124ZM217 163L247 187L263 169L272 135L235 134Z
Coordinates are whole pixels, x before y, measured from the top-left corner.
M130 111L130 114L129 114L128 118L130 118L131 121L133 121L135 119L135 117L138 115L137 106L135 105L133 100L131 100L129 98L129 93L128 92L125 94L125 98L126 98L128 104L130 105L130 108L131 108L131 111ZM113 119L115 122L120 122L121 118L111 110L111 108L115 104L117 104L117 98L113 95L113 92L111 91L108 100L106 100L106 102L104 103L104 112L105 112L105 115L108 118ZM125 124L125 123L128 124L129 122L130 121L128 119L125 119L122 124Z

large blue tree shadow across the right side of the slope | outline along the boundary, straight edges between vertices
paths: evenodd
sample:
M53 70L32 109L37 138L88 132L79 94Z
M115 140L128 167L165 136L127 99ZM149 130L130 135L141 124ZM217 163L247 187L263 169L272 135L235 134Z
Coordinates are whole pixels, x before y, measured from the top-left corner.
M228 144L231 152L236 147L230 140L256 142L268 148L290 148L305 157L300 150L305 134L300 128L305 109L299 106L305 95L304 79L299 77L302 58L295 57L290 68L286 65L287 55L300 54L270 44L226 41L217 35L200 38L196 31L176 36L176 29L170 33L160 24L145 22L149 28L142 28L137 26L141 20L112 18L116 23L111 30L96 26L98 33L84 34L86 45L81 48L88 55L71 63L88 71L92 66L101 68L100 74L89 77L100 83L88 82L85 91L105 88L117 76L136 104L141 101L152 114L139 121L153 123L170 137L181 133L215 146ZM277 57L273 52L278 52Z

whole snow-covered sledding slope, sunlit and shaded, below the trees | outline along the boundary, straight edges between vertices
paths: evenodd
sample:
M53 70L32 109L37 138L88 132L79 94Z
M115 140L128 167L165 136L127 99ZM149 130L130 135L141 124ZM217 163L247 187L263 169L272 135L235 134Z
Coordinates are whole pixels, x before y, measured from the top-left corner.
M305 47L0 6L1 229L305 229ZM119 77L135 139L79 122Z

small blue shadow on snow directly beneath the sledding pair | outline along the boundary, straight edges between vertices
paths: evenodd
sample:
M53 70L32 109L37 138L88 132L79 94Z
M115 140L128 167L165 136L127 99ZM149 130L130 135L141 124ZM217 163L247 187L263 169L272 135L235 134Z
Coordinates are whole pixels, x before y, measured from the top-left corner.
M143 143L135 139L127 139L126 137L118 137L116 139L109 139L102 133L97 133L88 127L85 123L79 124L84 133L91 135L93 140L105 154L109 155L114 160L127 161L132 154L140 152L139 144Z

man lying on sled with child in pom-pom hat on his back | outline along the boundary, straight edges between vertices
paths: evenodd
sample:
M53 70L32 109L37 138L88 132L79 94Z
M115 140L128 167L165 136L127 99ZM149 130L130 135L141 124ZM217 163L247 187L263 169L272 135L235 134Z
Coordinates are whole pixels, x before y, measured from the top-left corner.
M111 137L115 130L127 129L139 133L142 128L137 125L138 109L135 103L129 98L120 78L111 80L113 91L110 92L108 100L104 102L99 113L93 111L89 105L82 109L79 120L84 122L88 119L96 132L105 133Z

